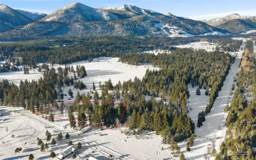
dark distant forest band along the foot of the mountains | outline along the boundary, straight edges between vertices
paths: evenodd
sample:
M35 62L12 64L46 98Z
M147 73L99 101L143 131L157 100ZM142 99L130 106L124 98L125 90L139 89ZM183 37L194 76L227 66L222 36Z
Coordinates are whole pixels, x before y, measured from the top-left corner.
M231 40L231 38L226 39ZM68 64L82 60L91 62L92 58L99 56L120 57L124 53L156 49L167 50L169 46L200 40L207 40L207 38L84 38L76 40L76 44L73 43L74 40L32 40L0 44L0 58L19 57L21 65L34 68L36 63ZM62 44L66 46L62 46Z

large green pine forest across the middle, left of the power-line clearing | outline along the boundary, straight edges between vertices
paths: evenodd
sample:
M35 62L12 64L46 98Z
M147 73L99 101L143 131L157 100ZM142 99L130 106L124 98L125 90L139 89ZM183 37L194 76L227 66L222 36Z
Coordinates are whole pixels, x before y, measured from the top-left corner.
M97 56L97 55L94 55ZM187 115L187 101L189 98L188 84L193 86L209 87L209 108L218 96L225 76L230 68L230 55L220 51L206 52L203 50L172 48L171 54L122 54L120 61L130 62L138 57L139 62L150 62L161 69L147 70L142 79L135 77L133 80L119 82L113 86L111 79L102 82L101 95L79 93L77 101L68 107L68 117L75 120L74 113L78 115L76 123L70 122L72 128L83 128L84 123L96 126L115 127L121 118L126 105L114 103L88 103L94 101L128 103L121 120L121 124L128 124L130 130L137 133L155 131L163 137L162 143L170 144L172 141L180 142L194 134L195 124ZM77 59L76 59L77 60ZM63 61L66 62L66 61ZM62 62L62 63L63 63ZM132 63L132 62L131 62ZM135 65L135 63L133 63ZM53 68L47 69L39 80L20 81L16 86L7 80L0 82L0 98L4 105L20 106L31 112L39 111L49 106L62 103L63 93L61 87L74 85L80 90L86 88L78 78L86 76L83 66L74 68L66 65L59 67L58 72ZM69 69L70 68L70 69ZM74 77L70 73L74 72ZM76 76L76 77L75 77ZM78 81L77 81L78 80ZM72 90L68 93L73 96ZM151 96L149 100L145 96ZM162 100L156 101L154 98ZM63 108L60 107L63 113ZM210 111L209 111L210 112ZM45 110L43 114L54 115L52 109ZM206 112L207 114L207 112Z

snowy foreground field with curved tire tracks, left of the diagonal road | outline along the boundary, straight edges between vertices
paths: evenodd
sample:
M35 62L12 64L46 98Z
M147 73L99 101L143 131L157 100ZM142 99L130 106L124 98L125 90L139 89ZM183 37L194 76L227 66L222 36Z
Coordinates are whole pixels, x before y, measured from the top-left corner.
M80 154L77 155L77 159L86 159L86 156L94 156L99 160L106 160L107 157L112 154L118 159L133 159L128 155L121 154L121 152L113 151L112 148L104 146L102 143L91 142L87 134L82 136L78 135L78 131L63 129L62 127L45 120L39 116L31 114L25 110L19 108L0 107L1 112L4 114L0 118L0 159L1 160L27 160L30 154L33 154L35 160L47 160L50 159L50 152L54 151L56 156L68 147L68 142L71 140L76 146L78 142L82 143L82 148L78 149ZM2 119L5 119L2 121ZM8 132L6 131L8 126ZM94 128L99 130L98 128ZM45 152L40 151L40 146L37 145L37 137L39 137L44 144L46 143L46 130L52 134L52 138L56 140L56 144L52 145L51 141L47 142L49 149ZM63 134L63 140L57 140L59 132ZM65 133L70 134L70 138L65 138ZM93 131L94 132L94 131ZM114 131L112 131L114 132ZM14 138L11 135L14 134ZM94 134L92 134L94 135ZM98 134L94 135L99 138ZM103 134L102 137L104 137ZM26 144L25 144L26 143ZM105 143L106 144L106 143ZM22 148L22 152L15 153L14 150L17 147ZM94 153L92 153L94 151ZM71 160L72 154L65 159Z

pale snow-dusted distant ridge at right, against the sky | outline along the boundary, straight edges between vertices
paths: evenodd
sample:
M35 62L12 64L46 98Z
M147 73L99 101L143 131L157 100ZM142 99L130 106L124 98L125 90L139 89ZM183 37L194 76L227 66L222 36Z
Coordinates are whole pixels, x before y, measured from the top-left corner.
M200 21L204 22L206 24L209 24L211 26L217 27L217 26L220 26L230 20L234 20L234 19L244 20L244 19L248 19L248 18L250 18L250 16L240 16L239 14L234 13L234 14L229 14L228 16L225 16L222 18L216 17L216 18L213 18L210 20L200 20Z

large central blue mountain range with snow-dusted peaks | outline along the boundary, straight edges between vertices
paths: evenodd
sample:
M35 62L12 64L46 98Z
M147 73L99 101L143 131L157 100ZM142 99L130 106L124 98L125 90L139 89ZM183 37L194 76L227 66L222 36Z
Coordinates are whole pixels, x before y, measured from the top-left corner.
M120 8L108 8L96 9L78 2L71 3L39 21L29 23L20 29L1 33L0 38L23 39L51 36L135 36L150 34L194 36L212 32L227 33L226 30L209 26L200 21L180 18L172 14L166 16L136 6L124 4ZM155 24L164 25L158 26ZM161 30L162 32L159 32Z

